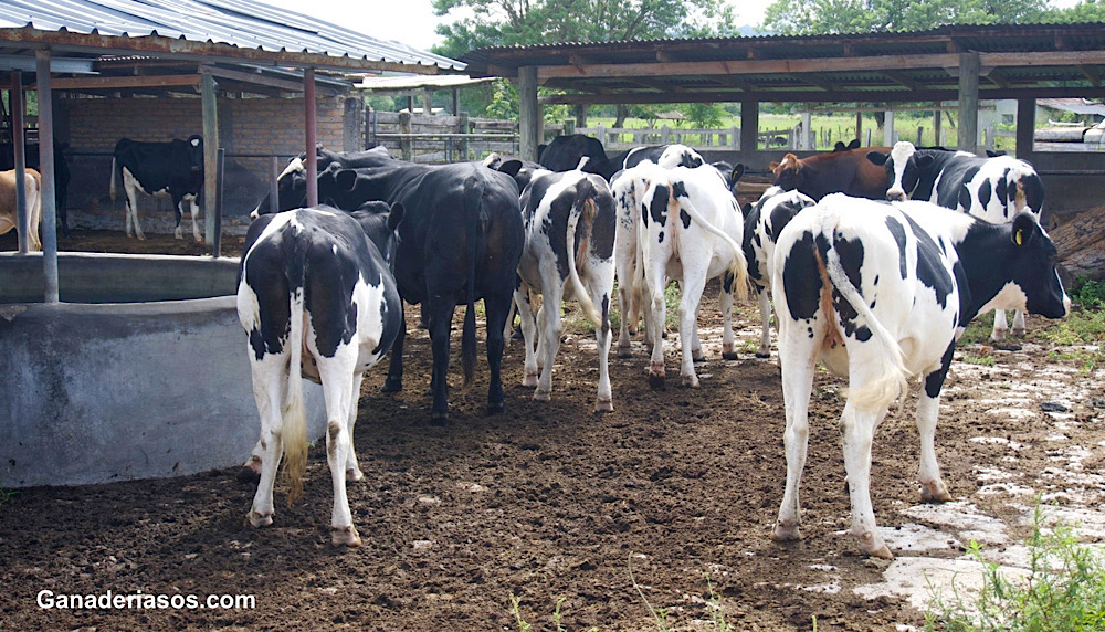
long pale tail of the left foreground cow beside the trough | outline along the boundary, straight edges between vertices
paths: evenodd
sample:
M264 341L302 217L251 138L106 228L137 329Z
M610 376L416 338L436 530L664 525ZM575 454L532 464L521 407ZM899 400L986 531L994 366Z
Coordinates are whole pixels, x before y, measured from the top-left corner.
M302 254L302 253L297 253ZM303 301L304 301L304 259L291 256L292 262L286 270L288 286L293 289L291 296L291 322L288 326L287 345L291 360L287 370L287 397L284 400L281 429L281 442L284 445L283 478L287 485L287 504L292 506L303 495L303 474L307 470L307 412L303 403L303 378L301 372L303 361ZM298 262L298 263L295 263Z

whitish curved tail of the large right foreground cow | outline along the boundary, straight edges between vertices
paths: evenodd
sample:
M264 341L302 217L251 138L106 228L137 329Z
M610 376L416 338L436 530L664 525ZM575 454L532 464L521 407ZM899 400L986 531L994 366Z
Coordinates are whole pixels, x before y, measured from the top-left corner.
M829 244L828 252L824 253L824 272L828 281L840 293L841 297L855 309L856 314L866 323L871 329L872 338L882 347L882 352L876 354L882 367L877 371L878 378L864 387L852 390L848 393L848 401L867 410L883 410L891 405L899 396L909 392L908 371L905 368L905 360L902 347L886 327L875 318L875 315L867 306L867 302L860 294L860 291L852 285L844 272L844 266L840 263L840 253L836 252L833 240L833 232L836 222L825 222L824 214L821 215L821 241ZM819 247L820 250L820 247ZM819 252L820 256L820 252ZM828 297L829 289L825 288L822 296L822 310L825 318L830 319L830 327L835 327L835 315L832 312L831 298ZM825 303L830 303L828 306Z

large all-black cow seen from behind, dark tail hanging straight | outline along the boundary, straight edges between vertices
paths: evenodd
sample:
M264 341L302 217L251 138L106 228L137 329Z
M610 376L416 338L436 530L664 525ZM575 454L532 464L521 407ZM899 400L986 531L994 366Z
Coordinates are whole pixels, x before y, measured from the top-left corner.
M486 307L487 364L491 385L488 412L504 410L501 365L503 327L511 310L514 281L525 244L518 187L506 173L477 164L428 166L397 160L376 152L327 157L318 173L318 199L341 209L367 200L382 200L404 208L399 224L396 281L403 301L425 303L433 345L433 411L431 422L449 419L445 376L449 369L449 330L456 305L466 305L461 357L467 385L475 368L475 307ZM344 168L357 160L359 167ZM293 164L295 161L293 160ZM306 177L290 167L280 179L281 210L303 206ZM267 209L262 201L259 211ZM404 328L406 329L406 328ZM385 391L402 388L400 333L391 354Z

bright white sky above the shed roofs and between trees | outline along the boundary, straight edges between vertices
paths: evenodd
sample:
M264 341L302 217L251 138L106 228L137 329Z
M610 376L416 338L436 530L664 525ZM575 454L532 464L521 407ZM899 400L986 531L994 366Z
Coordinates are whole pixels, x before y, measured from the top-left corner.
M431 0L261 0L297 13L340 24L380 40L396 40L428 50L441 43L434 28L449 17L433 14ZM737 25L759 24L774 0L726 0L735 8Z

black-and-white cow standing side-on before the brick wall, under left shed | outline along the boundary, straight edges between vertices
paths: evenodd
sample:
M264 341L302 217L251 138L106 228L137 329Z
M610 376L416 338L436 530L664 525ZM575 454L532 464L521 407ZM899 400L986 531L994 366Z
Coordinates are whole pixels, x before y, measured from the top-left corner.
M188 140L173 138L169 143L139 143L123 138L115 144L112 154L112 202L115 202L115 178L123 180L127 196L126 230L138 239L146 239L138 224L137 197L141 191L147 196L172 198L172 211L177 217L177 239L183 239L180 231L182 212L180 203L188 200L192 213L192 236L203 241L198 222L199 204L196 198L203 190L203 138L189 136Z

